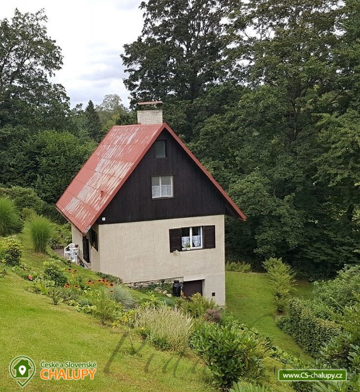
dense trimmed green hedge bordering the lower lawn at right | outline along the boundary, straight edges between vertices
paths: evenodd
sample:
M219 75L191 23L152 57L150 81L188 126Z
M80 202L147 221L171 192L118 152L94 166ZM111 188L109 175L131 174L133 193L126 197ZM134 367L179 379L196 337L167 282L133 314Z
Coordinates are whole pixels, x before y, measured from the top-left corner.
M324 344L341 333L334 321L319 319L298 298L290 301L288 313L279 320L279 327L313 357L319 355Z

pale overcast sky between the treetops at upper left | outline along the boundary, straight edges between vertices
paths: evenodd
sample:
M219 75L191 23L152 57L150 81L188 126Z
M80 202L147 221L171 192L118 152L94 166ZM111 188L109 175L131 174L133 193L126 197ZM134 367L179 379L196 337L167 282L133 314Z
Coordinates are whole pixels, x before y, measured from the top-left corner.
M61 83L71 105L89 99L100 103L105 94L119 94L128 105L120 53L141 33L141 0L8 0L1 1L0 19L14 9L45 9L48 34L62 49L63 68L54 80Z

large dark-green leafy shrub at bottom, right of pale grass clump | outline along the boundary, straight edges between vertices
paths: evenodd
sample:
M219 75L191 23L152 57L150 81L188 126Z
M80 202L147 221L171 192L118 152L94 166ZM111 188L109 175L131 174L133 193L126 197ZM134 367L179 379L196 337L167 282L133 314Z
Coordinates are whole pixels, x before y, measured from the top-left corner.
M262 347L254 335L235 325L206 323L195 332L191 344L217 387L227 389L240 378L252 381L262 374Z

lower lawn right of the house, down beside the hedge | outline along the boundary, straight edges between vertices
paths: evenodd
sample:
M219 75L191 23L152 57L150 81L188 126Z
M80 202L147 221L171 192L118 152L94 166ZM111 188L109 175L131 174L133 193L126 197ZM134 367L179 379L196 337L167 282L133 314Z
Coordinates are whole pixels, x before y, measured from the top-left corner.
M311 285L306 282L298 283L293 294L309 297ZM298 344L276 325L275 306L265 274L227 271L226 303L239 320L272 338L284 351L302 359L309 358Z

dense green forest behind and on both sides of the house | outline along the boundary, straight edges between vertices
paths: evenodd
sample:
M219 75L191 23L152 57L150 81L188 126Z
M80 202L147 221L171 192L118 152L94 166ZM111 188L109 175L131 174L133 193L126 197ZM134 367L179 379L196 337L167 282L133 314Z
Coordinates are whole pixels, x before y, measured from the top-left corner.
M51 82L63 57L44 11L0 21L1 189L60 220L54 203L103 135L136 123L137 101L161 99L164 121L248 217L227 220L229 259L283 257L308 277L358 264L359 1L140 8L141 36L119 48L130 108L113 94L71 109Z

